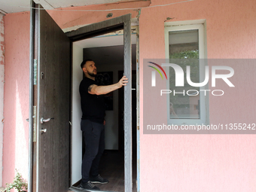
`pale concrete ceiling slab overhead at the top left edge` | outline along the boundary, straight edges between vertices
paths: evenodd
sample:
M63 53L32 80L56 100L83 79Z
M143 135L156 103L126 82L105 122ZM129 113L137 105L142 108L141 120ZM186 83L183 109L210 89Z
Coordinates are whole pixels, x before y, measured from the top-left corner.
M145 1L145 0L139 0ZM54 8L69 8L84 5L99 5L116 2L134 2L134 0L35 0L35 3L40 3L45 9ZM10 14L15 12L29 11L29 0L0 0L0 12Z

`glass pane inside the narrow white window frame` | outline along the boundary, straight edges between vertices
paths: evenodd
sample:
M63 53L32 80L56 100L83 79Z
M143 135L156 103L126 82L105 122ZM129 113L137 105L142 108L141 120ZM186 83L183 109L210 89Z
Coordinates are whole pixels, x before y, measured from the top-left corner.
M175 90L175 95L169 96L170 119L200 119L200 87L191 87L186 81L186 66L190 66L190 80L200 82L199 58L198 29L169 32L170 63L184 71L184 87L175 87L175 71L169 69L169 88Z

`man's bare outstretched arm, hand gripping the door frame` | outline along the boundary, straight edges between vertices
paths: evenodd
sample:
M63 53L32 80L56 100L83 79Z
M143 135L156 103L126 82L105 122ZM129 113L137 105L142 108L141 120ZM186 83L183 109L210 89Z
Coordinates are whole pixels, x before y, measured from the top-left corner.
M105 86L98 86L96 84L92 84L90 85L90 87L88 87L88 93L92 95L107 94L113 90L117 90L123 86L126 86L127 83L128 83L128 78L126 78L126 76L123 76L123 78L121 78L117 84L111 84L111 85L105 85Z

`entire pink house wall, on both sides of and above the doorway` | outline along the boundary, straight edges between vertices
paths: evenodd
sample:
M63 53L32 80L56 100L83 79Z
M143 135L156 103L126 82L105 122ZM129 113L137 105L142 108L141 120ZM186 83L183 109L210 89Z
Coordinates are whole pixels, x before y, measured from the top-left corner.
M151 6L170 3L152 0ZM84 9L138 8L148 2L97 5ZM78 8L71 8L78 9ZM140 43L140 187L141 191L255 191L256 136L254 135L143 135L143 59L165 58L164 20L206 19L208 58L254 58L256 23L254 0L203 1L180 3L157 8L143 8L139 17ZM106 20L136 11L74 12L49 11L62 28ZM14 177L14 168L27 174L29 115L29 14L5 17L5 126L4 181ZM19 30L17 30L19 29ZM242 70L242 69L241 69ZM249 105L245 100L244 105ZM214 105L212 105L214 104ZM255 103L250 102L250 105ZM151 105L157 120L166 122L166 102ZM254 117L254 109L248 108ZM218 105L210 98L210 114ZM220 118L234 120L237 111ZM212 117L210 117L210 120ZM231 122L233 123L233 122ZM19 152L20 148L22 152ZM23 153L24 155L21 155ZM23 165L23 166L22 166Z

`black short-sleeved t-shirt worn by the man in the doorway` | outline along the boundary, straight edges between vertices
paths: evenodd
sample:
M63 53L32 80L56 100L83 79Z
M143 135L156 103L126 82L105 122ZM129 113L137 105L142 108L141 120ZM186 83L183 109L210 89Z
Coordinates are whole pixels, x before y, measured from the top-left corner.
M91 120L96 123L103 123L105 116L104 96L97 96L88 93L88 87L91 84L96 84L90 78L84 78L79 86L81 96L82 119Z

